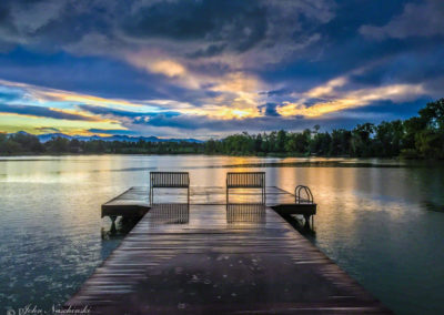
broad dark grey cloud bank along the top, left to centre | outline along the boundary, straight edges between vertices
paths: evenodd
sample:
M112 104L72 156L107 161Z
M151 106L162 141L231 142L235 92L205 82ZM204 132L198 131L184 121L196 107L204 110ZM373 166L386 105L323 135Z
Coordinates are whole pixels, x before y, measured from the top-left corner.
M4 0L0 34L43 51L68 49L87 54L118 53L155 39L192 41L199 47L188 47L184 55L201 58L225 50L243 52L260 42L264 48L283 48L287 41L299 44L310 39L315 26L332 18L333 7L332 0Z

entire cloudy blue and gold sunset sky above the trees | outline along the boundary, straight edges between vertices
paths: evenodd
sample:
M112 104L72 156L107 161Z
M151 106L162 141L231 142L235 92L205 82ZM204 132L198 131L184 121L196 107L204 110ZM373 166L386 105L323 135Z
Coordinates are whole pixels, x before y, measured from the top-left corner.
M444 1L1 0L0 131L201 138L405 119Z

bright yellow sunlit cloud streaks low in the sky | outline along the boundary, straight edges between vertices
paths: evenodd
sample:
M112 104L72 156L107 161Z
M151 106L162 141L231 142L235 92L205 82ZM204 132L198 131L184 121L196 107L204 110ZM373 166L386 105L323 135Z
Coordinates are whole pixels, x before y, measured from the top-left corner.
M285 119L291 119L292 116L316 119L347 109L365 106L374 101L392 100L402 102L425 93L422 84L392 84L343 91L342 88L346 83L346 77L333 79L304 93L292 95L296 98L296 101L283 101L276 104L275 111ZM97 134L97 132L92 133L89 130L131 130L129 129L132 123L131 118L138 115L149 115L150 118L153 114L169 112L188 118L219 121L266 116L266 112L260 110L260 104L266 100L260 93L264 84L254 77L241 72L219 78L213 85L210 85L210 90L218 92L218 94L205 99L205 103L201 105L160 99L139 102L124 99L107 99L6 80L0 80L0 84L13 88L14 93L17 91L22 92L22 99L19 98L19 100L10 102L9 111L12 106L22 106L20 103L23 100L22 103L46 108L54 115L46 118L39 111L37 113L2 112L0 113L0 126L9 132L26 130L33 133L42 133L40 131L41 128L53 126L67 134L91 135ZM320 101L307 105L306 103L310 103L309 101L312 99L319 99ZM109 109L109 112L107 110L94 112L92 109L83 108L83 104ZM122 116L113 114L113 110L123 111ZM4 120L6 116L14 116L16 126ZM20 118L23 123L20 123ZM150 119L143 121L150 124ZM31 125L34 125L34 128L32 129ZM168 125L165 126L168 128Z

